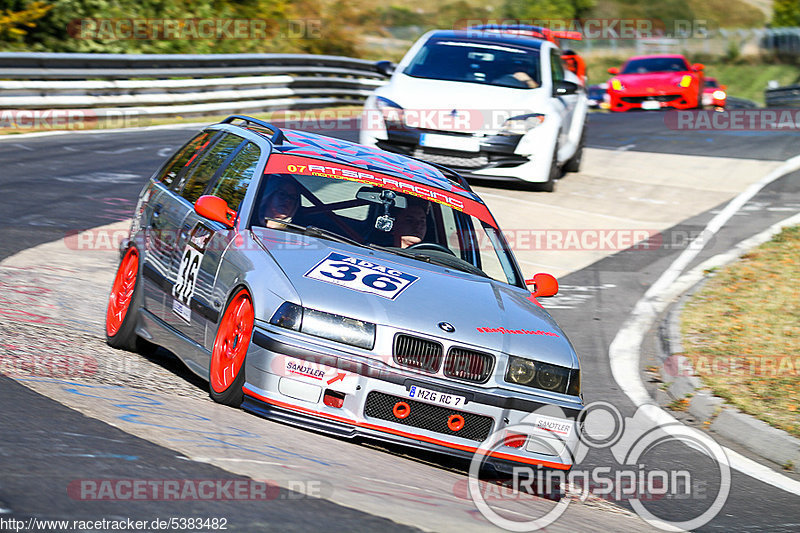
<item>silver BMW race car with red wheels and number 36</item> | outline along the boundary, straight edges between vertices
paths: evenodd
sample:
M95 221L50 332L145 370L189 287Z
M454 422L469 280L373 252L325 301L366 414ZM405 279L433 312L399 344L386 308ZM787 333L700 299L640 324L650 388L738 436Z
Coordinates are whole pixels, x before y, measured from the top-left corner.
M501 471L572 466L579 361L536 300L558 284L526 282L450 170L231 116L150 178L121 252L108 343L163 346L218 402Z

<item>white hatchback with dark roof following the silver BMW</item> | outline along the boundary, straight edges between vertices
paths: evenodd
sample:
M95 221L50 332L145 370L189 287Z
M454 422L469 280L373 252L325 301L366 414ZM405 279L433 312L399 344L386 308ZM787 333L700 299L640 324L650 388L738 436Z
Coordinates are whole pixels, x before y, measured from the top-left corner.
M389 74L392 65L379 62ZM588 99L554 43L485 30L421 37L365 103L360 142L552 191L577 172Z

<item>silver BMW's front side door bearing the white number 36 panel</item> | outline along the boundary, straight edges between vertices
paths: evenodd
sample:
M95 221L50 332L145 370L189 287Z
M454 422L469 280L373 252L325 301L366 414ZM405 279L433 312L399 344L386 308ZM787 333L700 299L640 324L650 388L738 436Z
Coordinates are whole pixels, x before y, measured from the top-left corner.
M233 238L233 232L219 222L200 217L194 210L194 203L200 196L214 191L219 179L228 176L226 171L233 173L246 155L252 154L250 150L242 152L247 144L238 135L223 133L197 164L181 190L186 213L175 243L170 275L172 287L167 295L165 320L198 344L205 340L207 322L216 324L218 309L211 301L211 289L219 257L229 239ZM240 153L242 158L237 159ZM237 166L231 167L234 161ZM225 180L225 183L229 181ZM238 205L233 206L236 207Z

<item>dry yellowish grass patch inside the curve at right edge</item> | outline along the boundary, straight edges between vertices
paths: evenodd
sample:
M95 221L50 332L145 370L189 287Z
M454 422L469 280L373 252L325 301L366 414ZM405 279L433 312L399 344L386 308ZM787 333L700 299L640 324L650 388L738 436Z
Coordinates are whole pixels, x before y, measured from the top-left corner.
M681 331L714 394L800 437L800 226L719 270L687 302Z

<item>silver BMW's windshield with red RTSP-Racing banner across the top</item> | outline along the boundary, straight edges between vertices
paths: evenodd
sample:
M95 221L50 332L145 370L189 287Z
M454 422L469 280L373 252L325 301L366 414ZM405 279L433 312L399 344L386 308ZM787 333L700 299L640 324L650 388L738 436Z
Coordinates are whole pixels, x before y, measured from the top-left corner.
M273 154L251 224L376 248L524 287L483 204L430 186L409 193L411 182L397 177L327 165Z

